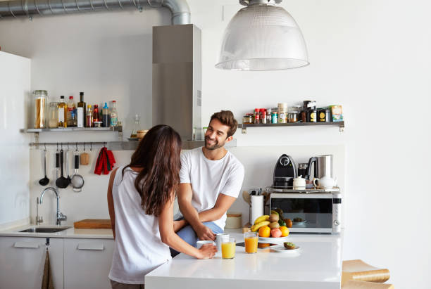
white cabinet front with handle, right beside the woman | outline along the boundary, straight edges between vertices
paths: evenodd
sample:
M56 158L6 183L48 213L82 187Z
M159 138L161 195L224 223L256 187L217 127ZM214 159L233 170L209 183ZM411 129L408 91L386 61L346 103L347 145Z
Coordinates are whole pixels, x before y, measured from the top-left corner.
M111 288L108 279L114 240L64 239L64 288Z

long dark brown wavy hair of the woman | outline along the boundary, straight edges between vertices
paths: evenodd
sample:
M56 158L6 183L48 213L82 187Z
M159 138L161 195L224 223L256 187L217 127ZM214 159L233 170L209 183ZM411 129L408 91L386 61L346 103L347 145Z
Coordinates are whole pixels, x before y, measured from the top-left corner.
M135 188L142 198L145 214L158 216L165 204L175 198L180 184L181 137L172 127L152 127L139 141L130 164L142 168L135 179Z

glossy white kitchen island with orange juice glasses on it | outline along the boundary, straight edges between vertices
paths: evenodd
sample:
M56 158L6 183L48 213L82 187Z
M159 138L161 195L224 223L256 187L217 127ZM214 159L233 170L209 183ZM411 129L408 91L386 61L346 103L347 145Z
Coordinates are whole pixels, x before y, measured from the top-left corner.
M238 230L226 230L237 243L244 238ZM199 260L180 254L145 277L145 288L295 288L339 289L342 276L342 233L291 234L289 242L301 252L258 249L246 254L237 245L234 259Z

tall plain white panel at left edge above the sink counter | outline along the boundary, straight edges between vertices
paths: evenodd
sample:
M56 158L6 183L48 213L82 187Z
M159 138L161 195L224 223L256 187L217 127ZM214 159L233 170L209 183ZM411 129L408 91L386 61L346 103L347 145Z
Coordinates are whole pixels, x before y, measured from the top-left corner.
M0 228L30 217L29 136L21 134L30 92L30 59L0 51Z

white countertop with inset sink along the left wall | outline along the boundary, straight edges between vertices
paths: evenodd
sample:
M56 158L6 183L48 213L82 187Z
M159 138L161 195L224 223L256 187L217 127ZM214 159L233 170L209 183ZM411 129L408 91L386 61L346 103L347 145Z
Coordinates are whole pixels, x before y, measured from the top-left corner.
M65 226L68 226L67 224ZM61 226L61 227L65 227ZM73 226L68 226L70 228L65 229L56 233L30 233L30 232L20 232L29 228L53 228L53 226L35 226L35 225L25 225L18 226L12 229L7 229L0 231L0 236L9 237L39 237L39 238L94 238L94 239L113 239L113 233L111 229L75 229Z

